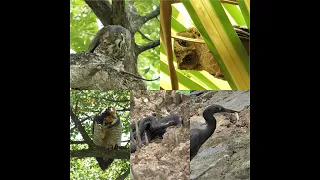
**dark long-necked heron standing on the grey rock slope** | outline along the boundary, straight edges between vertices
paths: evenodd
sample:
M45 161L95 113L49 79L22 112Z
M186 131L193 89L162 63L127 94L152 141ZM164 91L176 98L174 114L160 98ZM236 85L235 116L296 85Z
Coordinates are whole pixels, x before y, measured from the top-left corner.
M214 113L228 112L235 113L237 111L226 109L220 105L211 105L203 111L203 117L206 120L207 127L205 129L191 129L190 130L190 161L198 153L200 147L213 134L216 129L216 119L213 117Z

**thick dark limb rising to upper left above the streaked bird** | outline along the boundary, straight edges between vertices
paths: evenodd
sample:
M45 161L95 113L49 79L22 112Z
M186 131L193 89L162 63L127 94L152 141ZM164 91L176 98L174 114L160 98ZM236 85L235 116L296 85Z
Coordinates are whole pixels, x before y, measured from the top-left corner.
M94 14L100 19L101 23L106 26L109 24L113 24L112 17L112 9L111 4L107 0L85 0L88 6L92 9Z

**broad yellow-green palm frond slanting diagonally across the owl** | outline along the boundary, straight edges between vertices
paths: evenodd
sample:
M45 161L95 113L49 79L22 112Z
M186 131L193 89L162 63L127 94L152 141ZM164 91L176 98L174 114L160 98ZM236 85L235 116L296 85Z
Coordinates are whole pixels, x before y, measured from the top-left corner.
M249 89L249 56L220 1L182 0L232 89Z

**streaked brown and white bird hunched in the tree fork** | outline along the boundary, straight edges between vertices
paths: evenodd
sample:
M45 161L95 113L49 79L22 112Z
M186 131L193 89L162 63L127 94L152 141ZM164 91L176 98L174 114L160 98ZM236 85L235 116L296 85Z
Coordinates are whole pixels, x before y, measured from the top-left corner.
M100 29L91 41L88 52L122 59L131 46L131 33L120 25L108 25Z

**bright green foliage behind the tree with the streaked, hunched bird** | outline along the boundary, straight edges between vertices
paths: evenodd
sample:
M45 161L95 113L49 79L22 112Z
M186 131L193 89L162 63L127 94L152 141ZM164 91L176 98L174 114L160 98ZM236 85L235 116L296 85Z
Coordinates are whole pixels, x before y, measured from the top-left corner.
M141 16L152 12L159 6L159 0L135 0L134 6ZM128 3L126 3L126 6ZM83 0L70 1L70 48L75 52L86 51L95 34L101 27L96 15ZM148 21L140 31L151 40L158 40L160 33L160 22L157 19ZM140 33L135 34L135 42L138 45L149 43ZM149 49L138 56L138 72L145 79L156 79L159 77L159 46ZM160 89L159 80L146 81L147 89Z

